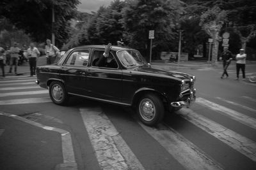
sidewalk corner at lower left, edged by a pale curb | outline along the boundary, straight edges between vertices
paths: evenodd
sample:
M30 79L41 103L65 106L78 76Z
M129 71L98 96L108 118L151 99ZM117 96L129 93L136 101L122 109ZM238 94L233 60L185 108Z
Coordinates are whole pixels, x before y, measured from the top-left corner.
M63 163L61 134L0 112L1 169L55 169Z

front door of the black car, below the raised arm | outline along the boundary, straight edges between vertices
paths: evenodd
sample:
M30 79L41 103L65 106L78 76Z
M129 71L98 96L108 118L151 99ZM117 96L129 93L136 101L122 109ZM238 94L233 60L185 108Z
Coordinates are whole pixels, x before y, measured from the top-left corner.
M120 103L122 98L122 69L119 69L113 53L109 53L106 64L96 65L104 49L92 50L92 64L88 67L88 90L90 96L102 101Z

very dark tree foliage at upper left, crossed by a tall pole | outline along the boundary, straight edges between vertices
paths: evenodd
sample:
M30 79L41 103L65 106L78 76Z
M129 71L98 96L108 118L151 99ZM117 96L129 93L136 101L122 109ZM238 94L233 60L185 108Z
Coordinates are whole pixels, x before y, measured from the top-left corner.
M35 41L51 37L52 8L55 11L54 31L60 45L68 38L69 22L76 13L79 0L2 0L0 15L8 18L15 27L24 29Z

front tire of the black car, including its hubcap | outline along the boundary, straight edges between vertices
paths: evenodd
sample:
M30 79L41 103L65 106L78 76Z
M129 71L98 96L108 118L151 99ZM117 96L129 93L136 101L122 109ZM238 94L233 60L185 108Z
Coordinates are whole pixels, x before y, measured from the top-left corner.
M164 116L164 105L155 94L145 94L137 104L137 113L141 122L148 126L159 124Z

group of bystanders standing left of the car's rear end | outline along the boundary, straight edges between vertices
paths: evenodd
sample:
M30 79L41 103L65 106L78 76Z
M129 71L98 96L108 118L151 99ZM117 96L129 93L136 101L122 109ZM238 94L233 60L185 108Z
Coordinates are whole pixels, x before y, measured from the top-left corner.
M8 49L4 50L3 47L0 47L0 67L1 67L3 78L5 77L4 67L6 65L9 65L10 67L8 73L12 73L12 69L14 67L14 73L17 74L20 51L21 50L17 46L16 42L13 43L13 46L10 48L10 50ZM46 63L52 64L54 62L56 54L58 54L59 52L60 50L56 46L51 44L51 40L47 39L46 45L45 45ZM10 60L6 60L6 55L10 55ZM23 55L29 61L30 76L35 76L36 60L40 56L40 52L38 48L36 48L35 43L30 43L28 49L23 49Z

